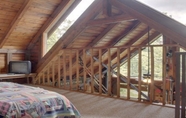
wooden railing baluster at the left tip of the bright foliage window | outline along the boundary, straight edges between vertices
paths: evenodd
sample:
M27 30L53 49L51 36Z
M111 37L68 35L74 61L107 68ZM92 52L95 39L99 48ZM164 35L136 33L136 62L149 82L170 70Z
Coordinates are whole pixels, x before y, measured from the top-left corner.
M117 48L117 97L120 97L120 48Z

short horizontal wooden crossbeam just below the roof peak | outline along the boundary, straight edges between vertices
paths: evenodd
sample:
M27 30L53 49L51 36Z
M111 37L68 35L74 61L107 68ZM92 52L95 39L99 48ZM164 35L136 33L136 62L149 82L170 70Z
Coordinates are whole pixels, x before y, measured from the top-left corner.
M118 23L122 21L133 21L133 20L136 20L136 19L134 19L134 17L130 16L129 14L122 14L122 15L111 16L111 17L102 18L102 19L91 20L89 21L89 23L87 23L87 27Z

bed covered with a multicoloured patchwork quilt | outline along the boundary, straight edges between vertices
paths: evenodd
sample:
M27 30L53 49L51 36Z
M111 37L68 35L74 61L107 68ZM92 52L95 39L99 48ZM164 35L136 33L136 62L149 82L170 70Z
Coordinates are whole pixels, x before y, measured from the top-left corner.
M0 82L0 118L80 118L63 95L39 87Z

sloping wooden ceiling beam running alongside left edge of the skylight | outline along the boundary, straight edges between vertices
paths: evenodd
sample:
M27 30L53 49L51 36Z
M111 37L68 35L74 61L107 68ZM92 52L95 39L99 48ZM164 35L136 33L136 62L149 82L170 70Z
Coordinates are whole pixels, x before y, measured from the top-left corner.
M71 0L62 0L62 2L54 10L52 15L47 19L47 21L42 25L37 34L33 37L31 42L27 46L28 50L34 47L35 43L39 40L39 37L43 34L43 32L49 30L49 27L52 27L55 24L55 22L57 22L59 17L68 9L69 5L71 4L72 4Z

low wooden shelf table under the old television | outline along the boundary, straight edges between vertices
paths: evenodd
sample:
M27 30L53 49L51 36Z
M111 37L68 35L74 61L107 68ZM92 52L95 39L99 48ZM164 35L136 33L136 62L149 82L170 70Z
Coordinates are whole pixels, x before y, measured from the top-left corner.
M29 84L29 78L31 77L32 80L36 76L36 73L30 74L0 74L0 81L7 80L7 79L16 79L16 78L26 78L27 84Z

